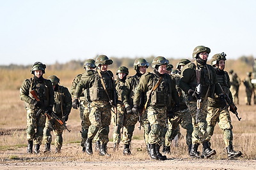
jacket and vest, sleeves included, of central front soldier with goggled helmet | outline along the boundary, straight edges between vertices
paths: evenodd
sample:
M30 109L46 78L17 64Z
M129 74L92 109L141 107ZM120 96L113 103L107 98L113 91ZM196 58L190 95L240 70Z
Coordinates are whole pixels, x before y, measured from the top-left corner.
M150 93L157 82L163 76L161 83L157 89ZM179 104L179 96L175 89L175 82L169 74L160 75L156 69L152 73L145 73L140 78L140 83L135 90L134 105L140 106L140 99L143 97L144 103L148 100L148 106L168 107L172 108L172 99L176 104Z

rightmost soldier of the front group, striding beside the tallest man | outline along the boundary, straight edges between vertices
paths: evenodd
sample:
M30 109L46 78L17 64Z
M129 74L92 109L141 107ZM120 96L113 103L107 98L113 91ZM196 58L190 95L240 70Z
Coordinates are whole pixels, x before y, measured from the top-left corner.
M232 94L229 90L230 88L230 79L228 76L227 71L223 69L219 69L219 62L225 63L225 53L218 53L213 55L212 57L212 66L216 71L216 77L218 83L220 83L224 93L231 99L232 101ZM225 66L225 65L224 65ZM228 111L227 103L221 101L219 97L216 95L214 97L209 97L209 104L208 104L208 113L206 117L207 121L207 133L209 134L207 140L210 141L214 127L218 122L220 129L223 131L223 139L225 142L225 146L227 149L228 157L239 157L242 155L241 152L236 152L233 150L233 132L232 132L232 124L230 113Z

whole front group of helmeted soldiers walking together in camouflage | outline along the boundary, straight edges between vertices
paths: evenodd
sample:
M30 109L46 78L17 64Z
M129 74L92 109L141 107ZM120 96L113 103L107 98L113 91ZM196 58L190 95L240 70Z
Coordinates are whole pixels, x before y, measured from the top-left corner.
M109 155L112 119L113 150L118 150L122 139L124 155L131 155L134 127L140 122L151 159L167 159L160 148L163 153L170 153L179 125L186 129L188 154L209 158L216 154L211 149L210 140L218 123L223 131L227 157L240 157L242 153L233 150L232 124L225 101L226 96L232 99L230 79L224 70L226 54L213 55L209 65L206 62L210 52L208 47L196 46L193 51L195 62L181 59L177 71L172 71L172 64L162 56L152 61L152 72L147 72L147 60L136 59L133 64L136 74L128 76L129 69L120 66L116 71L117 80L109 70L113 60L99 55L95 60L86 60L84 73L74 78L73 101L68 89L58 85L58 77L43 78L46 66L36 62L31 67L33 78L25 80L20 88L20 98L26 102L27 110L28 153L33 152L33 142L35 153L39 153L43 138L45 152L49 152L51 131L56 135L56 152L60 152L63 126L51 117L56 113L65 124L72 107L79 108L81 146L88 155L93 154L93 141L99 155ZM33 90L38 99L32 95ZM202 154L198 152L200 144Z

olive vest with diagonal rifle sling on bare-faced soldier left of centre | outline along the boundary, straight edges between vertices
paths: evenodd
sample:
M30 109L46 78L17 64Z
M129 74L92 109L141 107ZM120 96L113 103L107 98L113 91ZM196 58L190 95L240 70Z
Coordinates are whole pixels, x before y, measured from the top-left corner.
M106 94L104 87L102 86L99 74L95 73L95 80L89 90L91 101L109 101L109 98L111 100L114 99L114 84L112 79L113 77L108 73L108 71L106 73L101 73L101 75L106 86L108 95Z

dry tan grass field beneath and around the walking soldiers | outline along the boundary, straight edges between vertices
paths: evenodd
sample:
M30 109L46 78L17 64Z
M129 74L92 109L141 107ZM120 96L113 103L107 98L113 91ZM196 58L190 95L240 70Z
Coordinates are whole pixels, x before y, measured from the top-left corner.
M70 89L74 76L81 72L83 72L82 69L46 71L44 77L56 74L60 77L60 84ZM131 156L122 155L122 143L121 148L113 152L111 141L108 144L110 157L100 157L97 153L92 156L82 153L81 146L79 146L81 129L79 111L73 109L67 122L67 127L71 129L71 132L64 132L64 145L60 154L54 152L38 155L26 154L26 111L24 102L20 101L19 87L22 81L30 77L29 70L0 70L1 169L256 169L256 105L245 105L244 85L241 85L240 104L237 106L239 117L242 117L241 122L231 113L234 126L234 149L241 150L242 157L227 160L222 132L217 125L211 141L212 148L217 154L211 159L190 159L186 152L186 142L184 138L181 138L178 147L172 146L172 154L167 155L168 160L154 161L149 159L145 151L143 131L139 131L138 125L134 132ZM110 129L111 140L113 127L111 126ZM181 133L185 134L184 129L181 129ZM54 148L53 143L52 148ZM41 150L44 150L44 145L41 146Z

